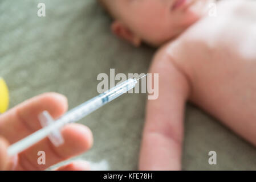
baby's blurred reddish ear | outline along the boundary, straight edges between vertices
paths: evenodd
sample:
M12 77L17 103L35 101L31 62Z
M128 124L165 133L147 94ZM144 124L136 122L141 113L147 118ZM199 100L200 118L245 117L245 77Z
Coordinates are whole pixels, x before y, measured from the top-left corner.
M129 43L133 44L133 46L139 47L141 45L141 39L119 20L115 20L111 24L111 31L119 38L127 40Z

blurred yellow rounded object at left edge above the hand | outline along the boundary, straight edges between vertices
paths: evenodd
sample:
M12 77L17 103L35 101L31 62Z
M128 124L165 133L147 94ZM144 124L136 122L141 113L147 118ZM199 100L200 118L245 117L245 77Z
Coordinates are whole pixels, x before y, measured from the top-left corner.
M9 106L9 92L5 80L0 77L0 113L4 113Z

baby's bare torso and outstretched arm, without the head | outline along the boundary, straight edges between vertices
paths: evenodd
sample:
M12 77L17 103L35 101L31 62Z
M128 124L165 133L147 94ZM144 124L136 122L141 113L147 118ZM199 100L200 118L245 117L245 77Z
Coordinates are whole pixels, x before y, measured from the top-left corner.
M192 101L256 145L256 2L220 2L156 53L159 99L149 100L142 170L181 169L183 115ZM152 147L153 146L153 147Z

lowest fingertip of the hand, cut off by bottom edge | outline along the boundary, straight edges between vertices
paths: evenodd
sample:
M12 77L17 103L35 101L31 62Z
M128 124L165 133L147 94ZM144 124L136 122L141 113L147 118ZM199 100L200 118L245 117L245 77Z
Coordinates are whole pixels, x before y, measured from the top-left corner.
M90 171L90 165L83 161L75 161L62 167L56 168L55 171Z

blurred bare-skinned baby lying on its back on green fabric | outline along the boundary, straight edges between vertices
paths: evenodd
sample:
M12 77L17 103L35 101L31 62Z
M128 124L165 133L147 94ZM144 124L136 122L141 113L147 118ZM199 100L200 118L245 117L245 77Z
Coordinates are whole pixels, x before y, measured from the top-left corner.
M256 145L256 1L220 1L216 17L194 11L198 1L101 3L114 34L161 46L149 71L159 73L159 98L147 103L139 169L181 169L186 101Z

